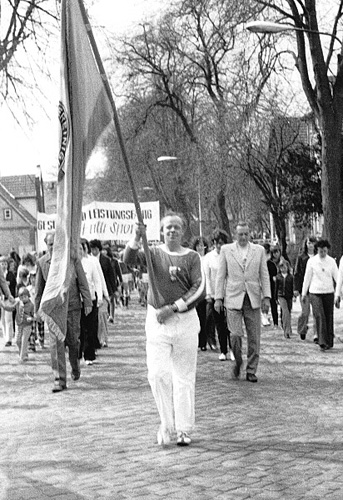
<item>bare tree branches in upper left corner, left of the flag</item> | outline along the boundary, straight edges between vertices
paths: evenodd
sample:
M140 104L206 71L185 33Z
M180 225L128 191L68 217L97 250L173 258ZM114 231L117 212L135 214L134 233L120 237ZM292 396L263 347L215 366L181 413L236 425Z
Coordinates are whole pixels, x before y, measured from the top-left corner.
M19 113L30 120L34 94L35 105L44 97L37 73L49 74L45 56L58 27L58 5L58 0L1 1L0 96L17 121Z

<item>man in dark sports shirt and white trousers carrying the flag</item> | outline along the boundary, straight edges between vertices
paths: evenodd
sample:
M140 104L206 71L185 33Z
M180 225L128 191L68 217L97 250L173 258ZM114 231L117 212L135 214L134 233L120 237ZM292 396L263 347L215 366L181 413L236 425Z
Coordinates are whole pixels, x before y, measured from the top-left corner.
M174 428L177 444L191 443L199 319L195 306L205 292L199 254L181 246L183 219L174 213L161 221L164 244L150 247L158 297L149 286L146 317L148 379L161 419L157 442L168 444ZM144 224L126 246L124 261L135 264ZM174 422L175 420L175 422Z

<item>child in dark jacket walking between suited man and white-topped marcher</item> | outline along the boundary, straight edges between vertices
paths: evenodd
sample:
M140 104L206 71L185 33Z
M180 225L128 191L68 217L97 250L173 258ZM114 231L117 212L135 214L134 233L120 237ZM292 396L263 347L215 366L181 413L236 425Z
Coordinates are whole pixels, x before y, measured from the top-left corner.
M279 271L275 278L275 300L280 304L282 328L286 339L289 339L292 334L291 311L293 297L294 285L291 268L287 260L281 259Z

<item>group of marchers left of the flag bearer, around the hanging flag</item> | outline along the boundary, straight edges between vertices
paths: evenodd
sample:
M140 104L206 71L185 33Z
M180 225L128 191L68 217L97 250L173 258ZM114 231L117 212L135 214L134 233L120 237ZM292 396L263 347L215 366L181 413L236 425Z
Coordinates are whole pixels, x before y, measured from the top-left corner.
M98 349L108 346L108 322L113 322L115 307L128 307L129 289L122 270L128 267L119 253L114 255L99 240L80 240L78 258L72 259L68 289L66 338L61 341L47 331L40 315L40 303L48 279L55 234L46 234L43 255L26 254L14 259L0 256L0 312L4 347L15 343L19 362L29 360L30 351L44 349L47 337L54 374L53 392L67 388L65 347L68 347L71 378L80 377L80 360L96 362ZM134 270L129 270L134 280ZM128 280L130 282L130 280Z

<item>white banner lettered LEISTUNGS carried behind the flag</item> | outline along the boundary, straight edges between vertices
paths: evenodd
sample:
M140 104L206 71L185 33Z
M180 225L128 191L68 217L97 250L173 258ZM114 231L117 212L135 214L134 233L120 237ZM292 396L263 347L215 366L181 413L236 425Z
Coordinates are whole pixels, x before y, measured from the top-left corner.
M147 226L148 241L160 240L160 202L140 204ZM37 251L46 250L44 238L55 229L56 214L37 214ZM81 238L89 240L129 241L135 230L137 215L134 203L93 201L82 208Z

